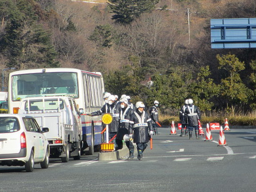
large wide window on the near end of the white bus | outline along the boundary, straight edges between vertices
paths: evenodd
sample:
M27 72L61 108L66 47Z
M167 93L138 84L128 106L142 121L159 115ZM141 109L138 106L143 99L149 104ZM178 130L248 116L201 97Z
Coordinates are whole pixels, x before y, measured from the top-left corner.
M33 73L12 76L12 100L26 97L69 96L78 98L77 73Z

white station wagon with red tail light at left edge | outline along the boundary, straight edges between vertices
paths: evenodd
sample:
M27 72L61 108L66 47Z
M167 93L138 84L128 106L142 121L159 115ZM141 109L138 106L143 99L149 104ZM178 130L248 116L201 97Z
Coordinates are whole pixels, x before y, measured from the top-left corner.
M27 172L34 164L49 166L49 143L44 136L48 128L38 126L36 120L21 114L0 114L0 165L24 166Z

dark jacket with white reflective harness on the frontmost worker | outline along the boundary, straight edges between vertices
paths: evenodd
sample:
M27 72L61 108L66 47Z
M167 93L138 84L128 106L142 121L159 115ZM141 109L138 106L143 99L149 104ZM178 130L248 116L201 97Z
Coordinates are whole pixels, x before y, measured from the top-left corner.
M129 134L132 134L132 131L134 131L134 143L147 143L149 141L148 131L153 131L153 127L151 118L147 112L143 111L140 113L138 110L136 110L131 115L129 123Z

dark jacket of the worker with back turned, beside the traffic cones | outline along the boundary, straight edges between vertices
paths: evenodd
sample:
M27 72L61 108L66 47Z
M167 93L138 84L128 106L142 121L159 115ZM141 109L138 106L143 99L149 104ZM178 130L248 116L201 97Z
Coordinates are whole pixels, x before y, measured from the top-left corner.
M197 106L189 104L185 110L188 117L188 125L196 126L198 125L198 119L201 119L201 113Z

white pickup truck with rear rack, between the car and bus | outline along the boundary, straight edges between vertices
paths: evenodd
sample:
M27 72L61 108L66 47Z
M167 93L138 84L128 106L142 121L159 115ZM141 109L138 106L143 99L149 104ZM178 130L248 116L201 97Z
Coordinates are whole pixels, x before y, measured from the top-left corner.
M41 128L49 128L45 136L50 145L50 158L61 158L62 162L68 162L70 156L80 159L82 126L74 99L28 97L21 100L18 113L34 117Z

